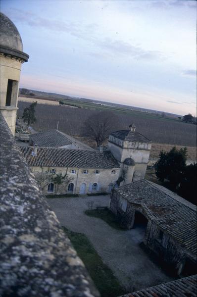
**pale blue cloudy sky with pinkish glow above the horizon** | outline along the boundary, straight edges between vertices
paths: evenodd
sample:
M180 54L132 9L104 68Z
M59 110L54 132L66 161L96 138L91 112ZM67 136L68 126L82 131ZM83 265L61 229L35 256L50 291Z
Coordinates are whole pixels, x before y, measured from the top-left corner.
M20 87L196 114L195 0L1 0Z

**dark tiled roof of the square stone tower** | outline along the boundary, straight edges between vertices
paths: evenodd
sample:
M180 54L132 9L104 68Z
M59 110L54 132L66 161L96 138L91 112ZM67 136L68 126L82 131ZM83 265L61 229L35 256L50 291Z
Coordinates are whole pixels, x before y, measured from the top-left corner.
M134 141L134 142L143 142L147 143L150 142L150 140L138 132L132 132L131 130L120 130L112 132L110 135L119 138L124 141Z

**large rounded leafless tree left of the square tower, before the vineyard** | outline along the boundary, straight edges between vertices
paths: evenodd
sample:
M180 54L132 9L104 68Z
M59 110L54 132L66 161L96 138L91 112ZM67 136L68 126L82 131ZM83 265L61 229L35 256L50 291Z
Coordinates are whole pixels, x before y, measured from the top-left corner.
M117 127L117 117L110 111L99 111L85 121L83 135L94 140L97 147L101 146L108 138L110 132Z

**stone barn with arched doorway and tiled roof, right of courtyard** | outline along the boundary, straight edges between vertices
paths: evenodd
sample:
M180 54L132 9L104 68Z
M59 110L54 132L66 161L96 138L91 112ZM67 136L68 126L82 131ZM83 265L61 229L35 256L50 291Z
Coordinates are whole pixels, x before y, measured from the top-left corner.
M110 209L122 226L133 228L139 217L145 224L144 244L176 269L196 271L197 207L161 186L140 180L114 189ZM191 274L191 273L190 273Z

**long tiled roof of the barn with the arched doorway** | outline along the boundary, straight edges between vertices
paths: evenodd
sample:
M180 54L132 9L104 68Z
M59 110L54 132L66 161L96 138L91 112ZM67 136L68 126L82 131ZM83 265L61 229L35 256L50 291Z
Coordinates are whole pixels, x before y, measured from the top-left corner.
M163 188L163 187L162 187ZM115 190L122 198L140 203L147 216L181 246L197 253L197 207L168 190L140 180ZM171 193L171 194L170 194Z

